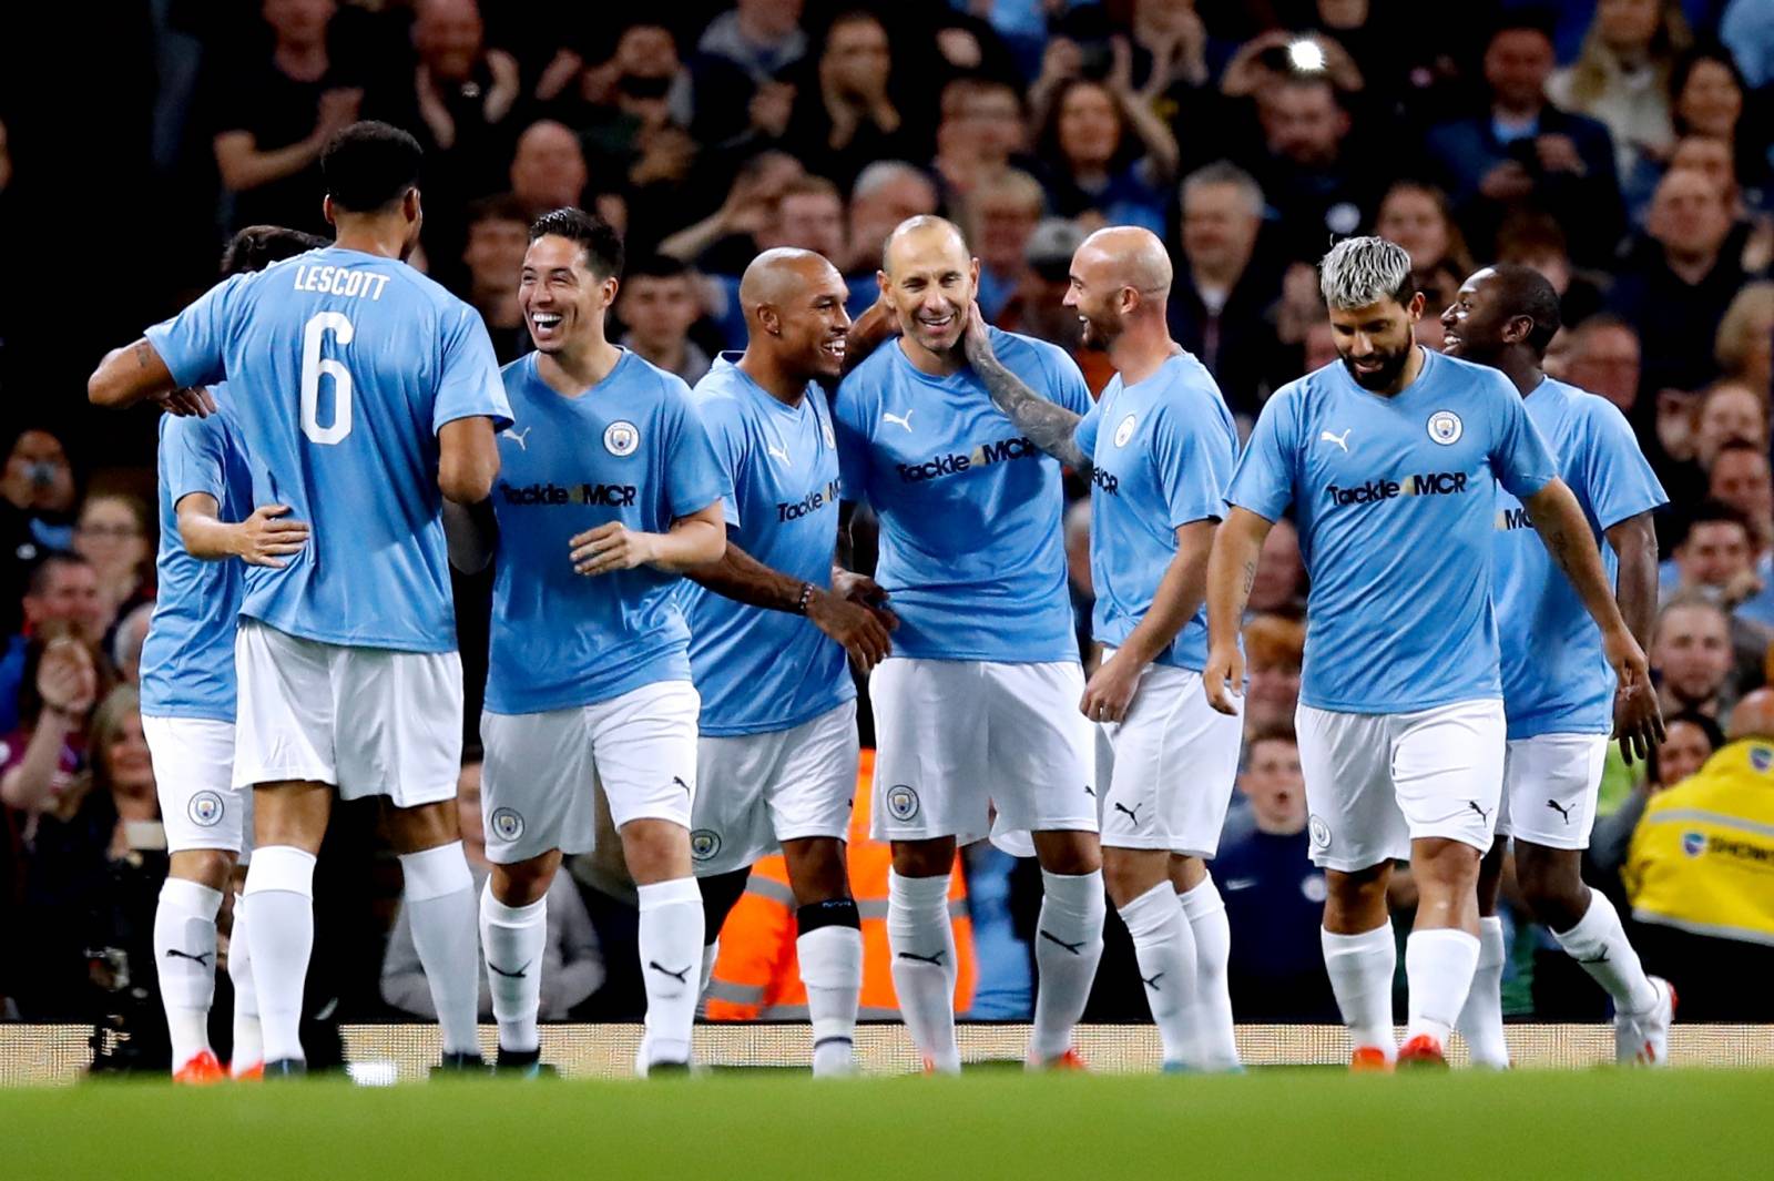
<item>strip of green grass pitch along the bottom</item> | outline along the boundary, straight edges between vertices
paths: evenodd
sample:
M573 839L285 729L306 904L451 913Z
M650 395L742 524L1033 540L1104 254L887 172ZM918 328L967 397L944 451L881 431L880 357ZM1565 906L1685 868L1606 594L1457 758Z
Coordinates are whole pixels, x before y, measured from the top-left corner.
M1774 1177L1774 1071L812 1082L158 1082L0 1092L0 1174L422 1177Z

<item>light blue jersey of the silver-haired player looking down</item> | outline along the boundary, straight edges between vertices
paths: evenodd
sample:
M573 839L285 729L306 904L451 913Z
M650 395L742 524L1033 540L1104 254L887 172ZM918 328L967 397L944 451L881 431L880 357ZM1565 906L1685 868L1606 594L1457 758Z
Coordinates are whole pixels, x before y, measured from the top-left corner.
M1300 700L1410 713L1501 697L1495 489L1533 497L1556 475L1495 369L1425 349L1394 397L1341 362L1279 388L1226 498L1272 521L1295 509L1311 580Z

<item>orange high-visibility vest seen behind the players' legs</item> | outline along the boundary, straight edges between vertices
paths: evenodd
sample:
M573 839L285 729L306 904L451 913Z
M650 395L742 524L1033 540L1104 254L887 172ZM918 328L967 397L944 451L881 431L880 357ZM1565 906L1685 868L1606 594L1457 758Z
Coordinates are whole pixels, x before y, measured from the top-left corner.
M862 1020L899 1020L892 989L892 952L887 949L887 871L892 849L869 839L869 791L875 752L862 752L857 771L857 803L850 817L850 894L862 915ZM967 883L960 856L949 878L949 920L954 924L954 1011L974 1002L974 927L967 919ZM793 1021L807 1018L807 989L800 982L795 954L795 894L788 885L788 862L773 853L756 865L745 894L720 931L720 956L708 984L710 1021Z

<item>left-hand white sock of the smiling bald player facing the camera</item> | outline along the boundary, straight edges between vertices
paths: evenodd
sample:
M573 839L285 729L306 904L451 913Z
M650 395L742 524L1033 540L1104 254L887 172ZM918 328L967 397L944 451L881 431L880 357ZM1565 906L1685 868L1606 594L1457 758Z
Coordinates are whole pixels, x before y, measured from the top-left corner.
M954 927L949 874L901 878L887 871L887 949L892 989L914 1044L940 1075L962 1071L954 1043Z

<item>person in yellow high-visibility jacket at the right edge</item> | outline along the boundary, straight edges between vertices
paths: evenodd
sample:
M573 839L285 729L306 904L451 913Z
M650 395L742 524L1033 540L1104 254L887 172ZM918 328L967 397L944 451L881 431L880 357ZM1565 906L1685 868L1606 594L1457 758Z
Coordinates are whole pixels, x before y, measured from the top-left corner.
M1774 692L1747 695L1730 745L1660 791L1632 833L1625 883L1644 968L1694 1021L1774 1020Z

